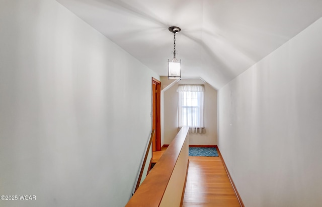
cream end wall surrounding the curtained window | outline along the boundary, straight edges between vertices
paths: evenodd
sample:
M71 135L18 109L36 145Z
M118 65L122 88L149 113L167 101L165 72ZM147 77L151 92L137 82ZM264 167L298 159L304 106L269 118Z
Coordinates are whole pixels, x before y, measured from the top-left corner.
M162 88L170 85L168 77L161 77ZM217 145L217 91L200 79L182 79L164 92L164 144L169 145L179 132L178 85L204 84L205 133L189 133L189 145Z

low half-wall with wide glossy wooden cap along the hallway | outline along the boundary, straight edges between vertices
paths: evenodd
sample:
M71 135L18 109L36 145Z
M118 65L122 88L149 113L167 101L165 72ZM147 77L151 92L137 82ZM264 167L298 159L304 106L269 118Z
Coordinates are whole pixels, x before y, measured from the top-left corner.
M189 165L189 127L183 127L126 207L181 206Z

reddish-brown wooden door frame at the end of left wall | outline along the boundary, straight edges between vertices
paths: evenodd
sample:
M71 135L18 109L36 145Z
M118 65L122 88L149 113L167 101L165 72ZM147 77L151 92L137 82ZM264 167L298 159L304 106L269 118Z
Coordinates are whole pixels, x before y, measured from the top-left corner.
M156 97L153 103L153 84L156 84ZM152 77L151 84L152 108L151 108L151 125L153 127L153 104L155 104L155 151L161 151L161 117L160 117L160 98L161 98L161 82Z

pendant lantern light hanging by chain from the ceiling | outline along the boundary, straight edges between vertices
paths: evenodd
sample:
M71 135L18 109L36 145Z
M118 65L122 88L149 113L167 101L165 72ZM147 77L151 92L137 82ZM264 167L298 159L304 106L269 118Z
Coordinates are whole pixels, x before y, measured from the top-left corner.
M181 60L178 61L176 58L176 33L180 32L179 27L173 26L169 27L169 31L173 32L174 44L173 44L173 59L169 61L168 59L168 79L181 79Z

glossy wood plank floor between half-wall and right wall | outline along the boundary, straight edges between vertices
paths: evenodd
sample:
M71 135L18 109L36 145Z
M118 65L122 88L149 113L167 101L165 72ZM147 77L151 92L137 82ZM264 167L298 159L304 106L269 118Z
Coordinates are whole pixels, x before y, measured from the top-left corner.
M220 157L189 157L183 206L240 207Z

